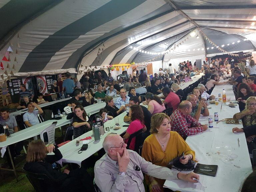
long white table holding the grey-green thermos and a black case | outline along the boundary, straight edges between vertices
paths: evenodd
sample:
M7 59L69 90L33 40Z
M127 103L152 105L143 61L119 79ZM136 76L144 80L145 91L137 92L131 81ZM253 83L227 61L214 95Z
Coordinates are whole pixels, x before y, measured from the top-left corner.
M126 114L127 114L126 112L123 112L114 118L114 119L117 119L117 118L119 119L119 124L121 129L119 130L110 129L108 133L116 133L120 135L126 131L127 127L123 127L124 124L127 124L126 122L124 122L124 116ZM110 128L111 126L114 126L115 125L114 119L108 120L107 122L105 122L104 127ZM61 162L76 163L81 166L81 162L83 160L87 159L88 157L90 157L91 155L93 155L94 153L96 153L97 151L103 148L102 144L103 144L104 138L107 136L108 133L105 133L103 136L100 137L100 141L96 142L94 141L94 137L92 136L92 131L89 131L81 135L79 138L76 138L66 143L65 145L59 147L59 150L63 156ZM86 138L87 136L92 137L92 139L89 141L90 143L88 144L88 149L79 154L78 151L81 149L83 145L83 141L80 141L79 146L76 146L76 141L79 139Z

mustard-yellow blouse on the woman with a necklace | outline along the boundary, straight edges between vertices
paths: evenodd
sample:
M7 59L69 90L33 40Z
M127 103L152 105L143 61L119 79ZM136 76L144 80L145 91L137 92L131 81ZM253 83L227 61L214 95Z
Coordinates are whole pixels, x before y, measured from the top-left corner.
M154 134L148 136L143 143L142 157L146 161L149 161L154 165L167 167L169 161L171 161L175 157L178 157L183 152L184 155L192 154L192 160L195 159L195 152L190 149L184 139L176 131L170 131L170 138L165 151L162 150L162 147L158 143L157 138L154 136ZM146 175L145 178L147 184L149 185L150 183L148 175ZM163 191L163 185L165 180L158 178L155 179L159 183Z

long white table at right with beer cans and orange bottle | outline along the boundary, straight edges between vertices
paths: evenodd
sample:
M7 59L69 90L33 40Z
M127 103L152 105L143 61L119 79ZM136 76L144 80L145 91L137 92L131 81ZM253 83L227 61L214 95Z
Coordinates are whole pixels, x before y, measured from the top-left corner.
M227 97L234 101L232 85L215 86L212 95L218 97L223 89L225 89ZM231 108L222 102L219 102L219 105L210 104L208 107L211 107L209 109L211 117L214 112L218 112L219 120L232 118L235 113L239 112L238 106ZM201 116L199 122L206 124L208 120ZM187 144L195 151L198 163L218 165L215 177L199 175L201 184L172 180L166 181L164 186L174 191L184 192L239 191L243 180L252 172L252 166L245 135L244 133L232 133L233 127L242 128L243 126L213 122L213 128L208 128L197 135L188 136L186 139Z

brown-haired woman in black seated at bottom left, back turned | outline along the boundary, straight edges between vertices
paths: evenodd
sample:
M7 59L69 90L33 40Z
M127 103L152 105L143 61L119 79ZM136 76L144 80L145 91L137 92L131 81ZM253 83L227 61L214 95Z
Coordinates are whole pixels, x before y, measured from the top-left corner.
M46 155L52 152L54 155ZM64 169L61 173L52 168L52 164L61 158L62 154L57 146L50 144L46 147L42 140L34 140L29 143L24 169L32 173L45 174L49 178L41 182L43 191L93 191L92 180L86 169Z

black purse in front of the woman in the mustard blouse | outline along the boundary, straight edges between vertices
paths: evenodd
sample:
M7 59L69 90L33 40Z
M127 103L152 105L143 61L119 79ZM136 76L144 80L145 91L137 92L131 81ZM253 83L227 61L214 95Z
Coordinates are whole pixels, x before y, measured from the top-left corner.
M184 153L182 153L182 155L172 159L168 163L167 167L170 168L170 169L172 169L172 168L177 169L178 171L191 171L191 170L195 169L195 166L196 166L195 161L188 160L187 164L182 164L180 162L180 159L183 159L183 158L184 158Z

